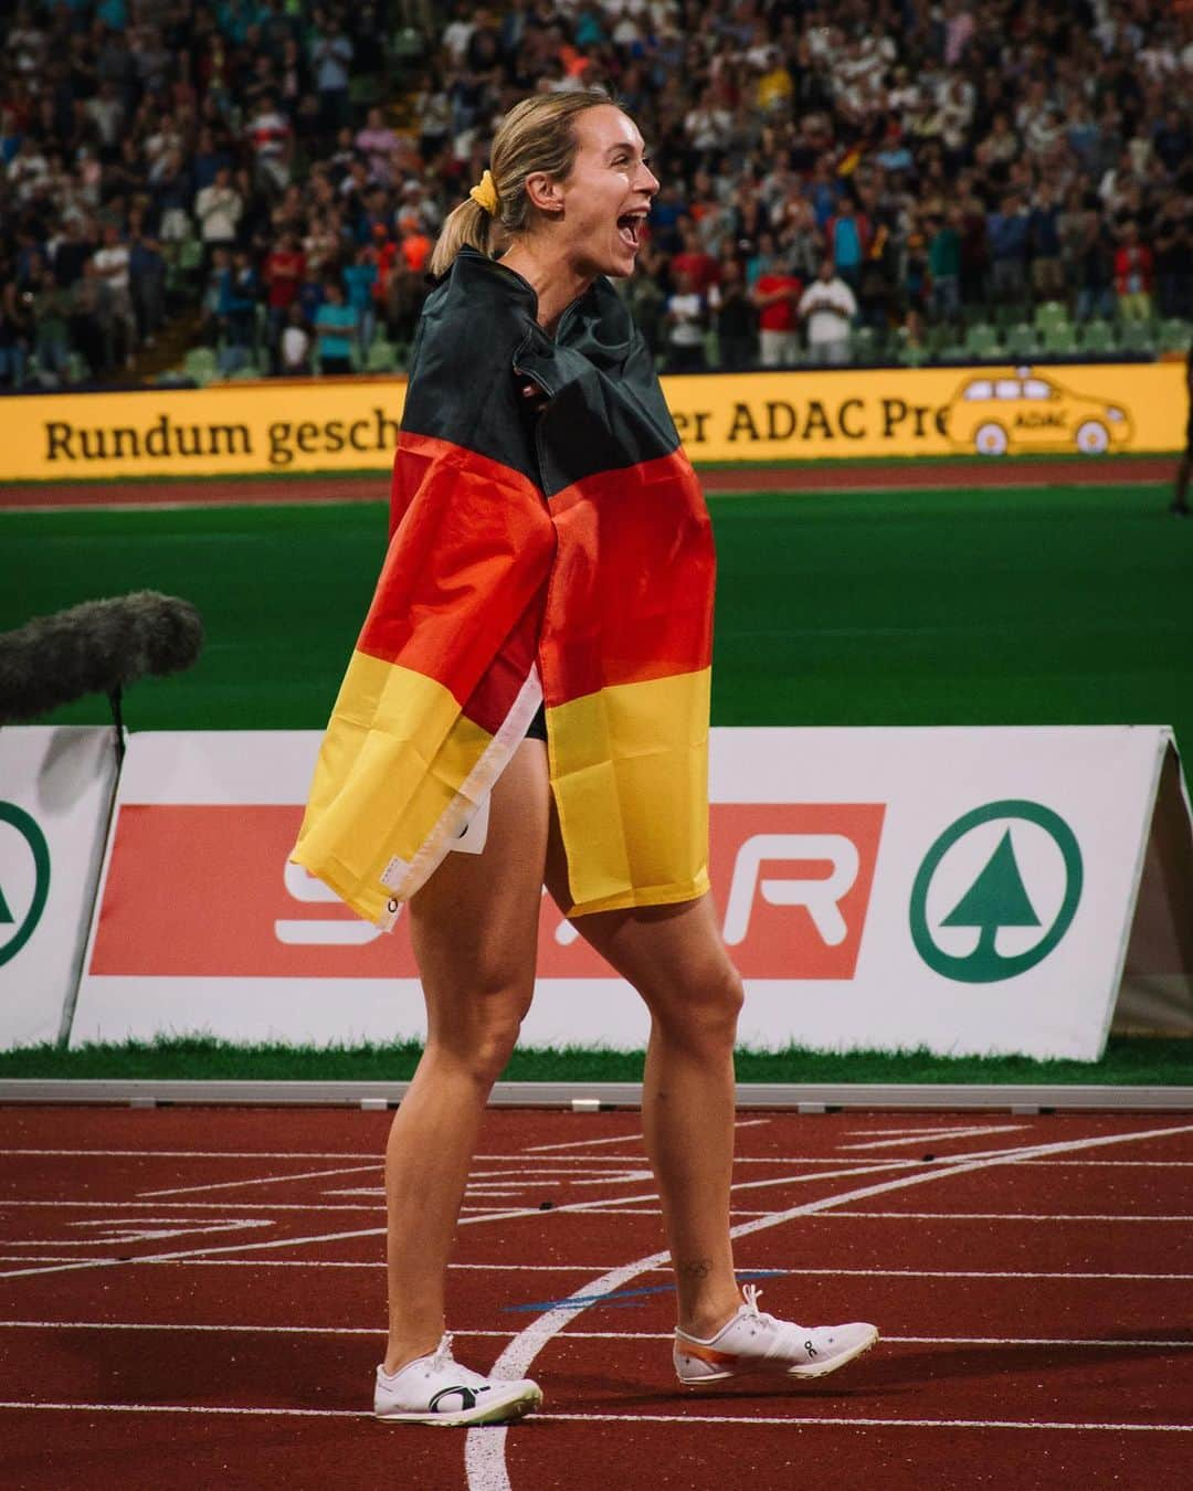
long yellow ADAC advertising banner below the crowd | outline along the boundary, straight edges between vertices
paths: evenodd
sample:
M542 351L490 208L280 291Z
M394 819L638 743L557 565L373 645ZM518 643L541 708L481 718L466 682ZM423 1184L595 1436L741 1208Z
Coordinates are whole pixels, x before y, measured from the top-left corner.
M1165 452L1184 364L877 368L664 379L702 461ZM0 480L388 471L403 379L0 400Z

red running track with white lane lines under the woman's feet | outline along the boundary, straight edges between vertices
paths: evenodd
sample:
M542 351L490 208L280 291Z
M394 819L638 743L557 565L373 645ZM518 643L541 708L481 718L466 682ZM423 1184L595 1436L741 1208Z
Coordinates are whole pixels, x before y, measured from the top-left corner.
M1193 1115L743 1117L732 1221L738 1267L774 1273L764 1308L884 1339L814 1384L693 1394L638 1115L494 1111L450 1324L546 1403L471 1433L367 1413L386 1123L0 1111L0 1485L1190 1484Z

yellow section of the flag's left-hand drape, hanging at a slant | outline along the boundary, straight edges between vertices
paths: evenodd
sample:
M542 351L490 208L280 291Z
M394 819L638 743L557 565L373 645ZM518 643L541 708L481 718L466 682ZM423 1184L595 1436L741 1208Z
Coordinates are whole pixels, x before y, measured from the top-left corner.
M291 857L376 921L386 866L415 859L491 741L441 683L353 652Z

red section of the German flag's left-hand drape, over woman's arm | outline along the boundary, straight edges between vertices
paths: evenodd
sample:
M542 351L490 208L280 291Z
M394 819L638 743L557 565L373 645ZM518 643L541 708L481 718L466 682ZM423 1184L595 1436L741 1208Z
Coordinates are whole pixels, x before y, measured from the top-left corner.
M403 434L394 491L397 532L358 649L462 705L543 584L555 529L526 477L428 435Z

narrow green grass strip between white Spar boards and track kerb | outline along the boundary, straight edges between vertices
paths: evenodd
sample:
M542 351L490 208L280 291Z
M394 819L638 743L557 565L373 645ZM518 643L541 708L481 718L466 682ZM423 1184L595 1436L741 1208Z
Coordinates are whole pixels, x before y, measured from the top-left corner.
M18 1047L0 1051L0 1078L157 1081L386 1081L413 1077L422 1047L234 1045L213 1036L173 1036L112 1045ZM509 1082L637 1082L641 1051L577 1047L514 1053ZM1020 1056L944 1057L931 1051L740 1051L740 1082L1008 1082L1123 1087L1193 1085L1193 1041L1111 1036L1101 1062L1041 1062Z

